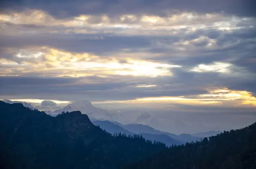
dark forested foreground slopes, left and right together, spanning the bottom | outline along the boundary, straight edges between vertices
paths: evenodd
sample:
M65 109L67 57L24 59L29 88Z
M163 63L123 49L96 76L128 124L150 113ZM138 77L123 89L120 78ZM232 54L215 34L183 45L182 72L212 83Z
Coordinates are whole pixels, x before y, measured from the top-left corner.
M141 135L121 132L111 135L79 111L52 117L21 103L0 101L0 116L1 169L256 167L256 123L200 141L166 147Z

